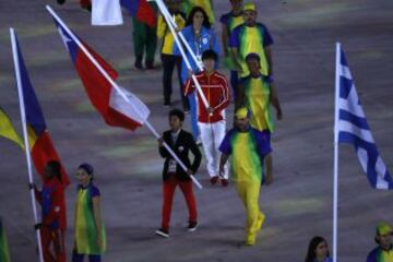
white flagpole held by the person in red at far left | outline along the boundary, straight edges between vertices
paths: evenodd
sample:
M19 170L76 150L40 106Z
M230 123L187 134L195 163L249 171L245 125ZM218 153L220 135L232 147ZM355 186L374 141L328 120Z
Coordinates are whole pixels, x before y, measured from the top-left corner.
M33 184L34 183L33 168L32 168L32 158L31 158L29 146L28 146L28 136L27 136L27 128L26 128L26 112L25 112L25 107L24 107L22 79L21 79L21 72L19 70L20 64L19 64L19 57L17 57L17 48L16 48L16 36L15 36L14 28L12 28L12 27L10 28L10 35L11 35L12 53L13 53L13 60L14 60L14 67L15 67L17 94L19 94L19 100L20 100L20 110L21 110L21 119L22 119L22 128L23 128L23 138L24 138L25 153L26 153L26 160L27 160L28 182L31 184ZM34 188L31 189L31 199L32 199L34 221L35 221L35 224L38 224L38 214L37 214L37 206L36 206L36 199L35 199ZM43 246L41 246L40 230L39 229L36 230L36 237L37 237L37 243L38 243L39 261L44 262Z

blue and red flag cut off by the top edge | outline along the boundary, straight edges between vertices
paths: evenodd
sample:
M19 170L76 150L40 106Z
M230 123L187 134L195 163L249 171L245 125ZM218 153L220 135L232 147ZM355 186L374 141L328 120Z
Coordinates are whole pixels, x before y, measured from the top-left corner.
M146 0L120 0L121 5L127 9L132 17L144 22L151 27L157 25L157 13Z

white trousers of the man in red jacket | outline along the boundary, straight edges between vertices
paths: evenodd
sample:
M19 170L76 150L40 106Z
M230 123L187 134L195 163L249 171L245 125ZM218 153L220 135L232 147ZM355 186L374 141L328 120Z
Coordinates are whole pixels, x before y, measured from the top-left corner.
M221 120L214 123L198 122L201 132L203 152L207 163L210 177L218 176L221 152L218 147L225 136L226 121ZM224 168L224 178L228 179L228 164Z

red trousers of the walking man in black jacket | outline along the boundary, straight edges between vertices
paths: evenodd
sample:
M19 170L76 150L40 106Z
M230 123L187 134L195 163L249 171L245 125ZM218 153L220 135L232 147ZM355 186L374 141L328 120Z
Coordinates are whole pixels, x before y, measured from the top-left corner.
M190 180L179 181L174 176L170 176L170 178L166 180L163 184L164 203L162 227L164 229L169 229L174 194L178 184L186 199L187 207L189 211L189 222L196 222L196 202L192 191L192 182Z

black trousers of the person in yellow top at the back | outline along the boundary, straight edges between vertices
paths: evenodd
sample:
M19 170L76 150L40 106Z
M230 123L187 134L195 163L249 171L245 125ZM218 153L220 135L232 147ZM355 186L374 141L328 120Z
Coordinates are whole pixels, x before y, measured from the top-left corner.
M163 86L164 86L164 103L170 103L170 96L172 94L172 75L175 71L175 67L177 69L178 80L179 80L179 90L180 97L184 109L188 109L188 99L183 94L183 86L180 80L180 68L181 68L181 59L178 56L162 53L162 62L163 62Z

